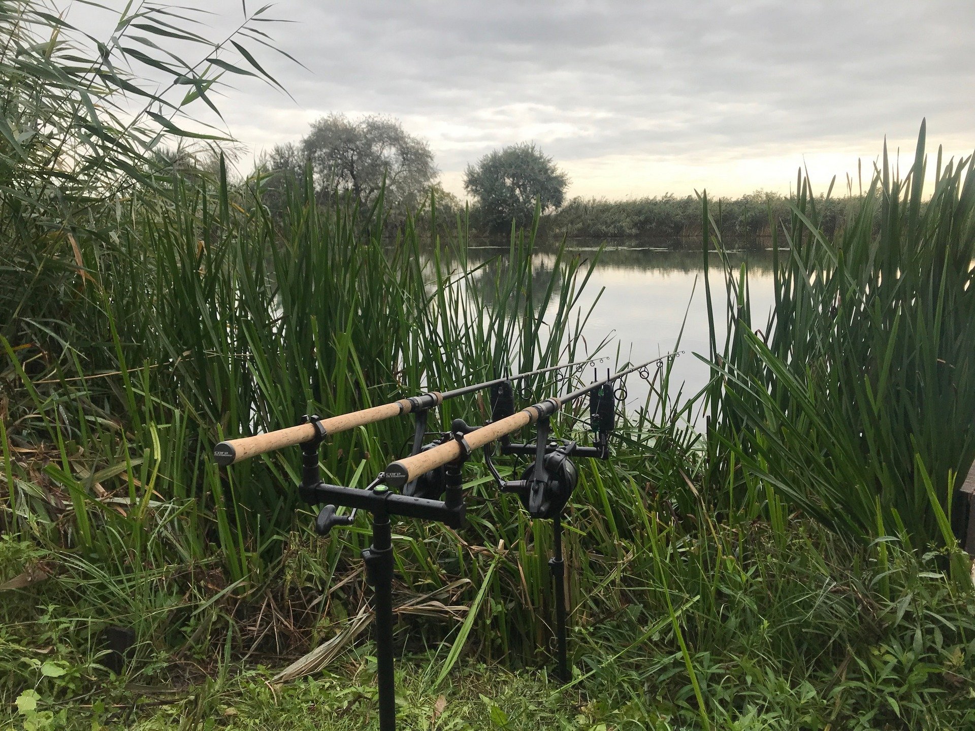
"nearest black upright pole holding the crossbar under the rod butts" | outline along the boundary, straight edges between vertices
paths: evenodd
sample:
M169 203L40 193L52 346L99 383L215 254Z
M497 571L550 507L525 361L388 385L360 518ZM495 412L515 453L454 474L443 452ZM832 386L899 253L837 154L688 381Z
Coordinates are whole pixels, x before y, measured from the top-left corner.
M377 494L388 494L380 484ZM393 542L389 515L380 501L372 513L372 545L363 551L366 581L372 587L375 612L376 681L379 686L379 731L396 731L396 678L393 674Z

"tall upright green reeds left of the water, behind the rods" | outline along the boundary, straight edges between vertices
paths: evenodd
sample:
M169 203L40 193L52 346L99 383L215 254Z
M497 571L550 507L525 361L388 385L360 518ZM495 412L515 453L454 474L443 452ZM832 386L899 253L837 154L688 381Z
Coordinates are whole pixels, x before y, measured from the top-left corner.
M292 189L280 222L225 176L214 186L177 184L173 195L173 207L137 210L137 225L120 229L113 249L78 239L86 272L70 292L78 319L59 323L69 339L0 341L13 397L5 437L33 455L5 460L8 523L97 556L90 570L128 577L122 587L140 579L155 594L134 568L153 566L167 581L182 575L167 584L171 597L201 570L213 574L217 596L254 596L288 559L289 531L308 518L295 523L296 450L221 472L211 452L224 436L576 358L585 319L576 310L592 261L560 251L534 272L530 232L507 257L468 270L462 240L421 242L408 223L389 246L366 214L320 209L310 187ZM556 385L527 383L523 398ZM470 400L442 416L448 423L472 409L487 417ZM367 479L410 434L409 422L394 420L342 435L324 450L326 475ZM50 448L59 459L42 467ZM509 505L502 520L518 514ZM478 579L465 544L450 542L456 565L437 568L443 552L431 542L443 549L444 539L433 531L409 542L408 585ZM328 585L344 571L345 549L362 543L352 532L316 549L326 568L313 569L314 584ZM354 588L352 603L363 592ZM186 621L147 611L148 600L113 590L97 614L128 617L155 641Z

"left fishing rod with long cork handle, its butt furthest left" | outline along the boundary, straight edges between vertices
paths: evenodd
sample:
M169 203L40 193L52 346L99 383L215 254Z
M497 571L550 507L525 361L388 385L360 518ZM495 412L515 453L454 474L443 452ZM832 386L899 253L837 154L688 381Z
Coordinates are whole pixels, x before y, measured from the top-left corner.
M367 424L374 424L377 421L384 421L385 419L392 418L393 416L399 416L407 413L414 413L418 417L420 417L422 414L422 418L420 418L420 420L423 423L422 425L419 423L417 424L417 433L419 434L421 426L424 430L426 427L426 412L431 408L443 404L449 399L453 399L458 396L466 396L467 394L471 394L482 389L496 387L502 383L524 380L526 378L530 378L531 376L549 373L554 370L565 370L566 368L576 367L579 365L596 363L597 360L604 359L590 358L586 361L577 361L575 363L568 363L565 365L550 365L549 367L538 368L537 370L531 370L527 373L518 373L516 375L509 375L503 378L494 378L493 380L484 381L483 383L476 383L471 386L462 386L444 393L439 391L430 391L429 393L420 394L419 396L410 396L406 399L400 399L399 401L391 402L390 404L370 406L369 408L363 408L359 411L338 414L337 416L331 416L330 418L326 419L315 415L307 416L305 417L305 420L297 426L277 429L273 432L265 432L264 434L256 434L253 437L240 437L235 440L219 442L214 447L214 458L216 464L226 467L237 462L242 462L245 459L255 457L258 454L264 454L265 452L281 449L285 446L294 446L295 444L302 444L305 442L311 442L313 440L321 441L327 435L346 432L349 429L355 429L356 427L365 426ZM422 437L420 437L420 439L422 440ZM417 446L415 441L414 446Z

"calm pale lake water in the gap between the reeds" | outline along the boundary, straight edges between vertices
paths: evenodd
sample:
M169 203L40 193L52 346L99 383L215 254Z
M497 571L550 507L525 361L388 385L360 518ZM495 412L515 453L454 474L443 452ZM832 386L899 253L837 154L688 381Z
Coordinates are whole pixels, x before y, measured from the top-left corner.
M708 381L708 365L695 354L707 359L708 312L704 291L704 257L700 245L688 249L662 248L639 242L622 245L609 244L596 261L595 270L583 291L580 306L592 315L582 335L590 347L604 338L611 339L605 351L615 357L619 345L621 360L635 363L671 352L683 350L671 376L671 389L683 384L684 396L697 393ZM689 244L693 247L693 244ZM598 241L570 241L567 249L583 257L596 256ZM470 250L472 263L480 264L492 256L505 255L506 250L492 247ZM537 264L551 268L554 254L537 253ZM757 327L767 321L773 304L772 254L770 251L732 252L728 256L733 266L747 263L752 299L752 318ZM719 348L725 334L726 290L721 262L717 254L710 256L711 287L715 319L719 325ZM595 302L595 305L593 303ZM551 313L548 313L551 314ZM682 334L683 327L683 334ZM678 346L680 340L680 345ZM580 347L579 354L586 348ZM605 365L605 364L604 364ZM611 364L610 364L611 365ZM636 408L644 403L648 386L636 374L628 379L627 404Z

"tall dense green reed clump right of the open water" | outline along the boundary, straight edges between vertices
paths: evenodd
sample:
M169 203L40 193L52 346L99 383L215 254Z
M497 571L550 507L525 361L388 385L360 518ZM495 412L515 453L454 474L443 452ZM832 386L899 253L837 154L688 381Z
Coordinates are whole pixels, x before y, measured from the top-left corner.
M716 311L709 289L709 308L728 335L712 343L713 457L736 458L737 499L766 484L842 532L953 543L952 493L975 459L975 175L939 150L925 200L926 166L922 126L910 172L897 178L884 151L837 240L800 176L767 321L747 271L718 254L728 301Z

